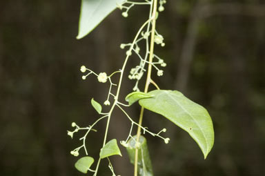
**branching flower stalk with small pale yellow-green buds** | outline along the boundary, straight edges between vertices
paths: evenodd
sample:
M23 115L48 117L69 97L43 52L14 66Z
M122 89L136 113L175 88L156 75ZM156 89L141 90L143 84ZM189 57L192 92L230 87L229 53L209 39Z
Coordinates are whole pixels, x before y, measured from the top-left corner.
M107 75L106 72L100 72L97 74L96 72L93 72L89 68L86 68L86 66L81 66L81 68L80 68L81 72L86 74L86 75L82 76L82 79L85 80L89 75L95 75L99 82L110 84L108 93L106 93L106 101L104 101L104 105L110 106L110 110L108 111L108 113L101 113L101 106L99 105L100 110L97 108L96 108L96 110L98 111L99 115L101 115L101 117L99 119L97 119L97 121L95 121L94 124L92 124L88 127L81 128L81 127L77 126L77 124L75 124L75 122L72 123L72 127L75 128L75 130L68 131L68 135L70 137L73 137L74 133L77 133L80 130L86 130L86 134L84 135L84 137L80 138L80 140L82 141L82 145L79 146L78 148L75 148L75 150L72 150L70 152L72 155L78 156L79 150L81 148L84 148L86 155L88 155L88 151L86 149L86 138L88 136L88 133L90 133L90 131L97 131L94 128L95 128L96 124L99 121L101 121L102 119L107 119L106 133L104 135L104 142L103 142L102 147L104 147L106 145L108 126L110 124L110 118L112 117L112 111L115 107L119 108L124 113L124 115L129 119L129 121L131 123L128 137L124 141L120 141L120 144L122 146L128 147L128 140L129 139L135 140L135 137L133 137L133 135L132 135L134 126L141 128L141 130L143 130L143 133L149 133L150 135L152 135L154 137L159 137L159 138L163 139L164 142L166 144L168 144L169 138L165 138L165 137L161 136L161 133L166 132L166 128L160 130L159 133L151 132L150 130L148 130L148 128L141 126L141 124L133 121L133 118L130 117L130 115L128 115L128 113L126 113L126 110L124 110L124 108L123 108L123 106L129 106L129 105L123 104L123 103L121 103L121 101L119 101L119 92L121 89L122 80L124 78L124 70L126 68L126 64L128 62L128 59L132 55L136 55L139 58L139 65L131 68L130 69L130 75L128 75L129 79L133 79L136 81L135 86L133 87L133 91L137 91L137 92L140 91L140 88L138 87L139 81L144 76L144 73L148 70L147 66L152 66L153 68L155 68L157 70L157 76L163 75L163 70L161 70L161 68L166 66L166 63L164 62L164 60L161 59L160 57L158 57L157 55L153 54L153 51L152 51L151 57L153 58L152 60L154 60L154 61L148 60L148 58L150 57L150 42L151 41L153 41L154 43L156 43L157 45L160 45L162 47L165 46L164 37L162 35L160 35L159 32L157 32L157 30L153 31L153 28L152 28L153 20L156 19L157 15L158 15L158 12L153 13L153 8L154 8L155 3L157 3L156 0L143 0L143 1L139 1L139 2L124 1L123 3L117 3L117 8L122 10L121 14L124 17L128 17L129 10L136 5L143 5L143 6L149 6L150 7L148 19L141 26L141 28L139 28L135 38L133 39L133 42L132 43L122 43L120 45L121 49L126 50L126 58L124 59L123 66L121 67L120 70L112 72L112 74L110 74L110 75ZM159 1L159 8L158 8L159 12L164 10L164 6L163 6L164 3L166 3L165 0ZM153 39L150 39L152 32L154 32ZM145 47L140 48L140 43L144 43L143 46L145 46ZM142 44L141 44L141 46L142 46ZM115 74L119 74L119 82L117 84L113 83L112 79L111 79L112 76ZM159 89L157 84L155 84L155 82L152 79L150 80L150 83L154 84L154 86L157 89ZM114 88L115 88L115 91L113 91ZM116 93L114 94L112 92L116 92ZM136 144L135 146L137 146L137 143L139 143L139 141L135 140L135 144ZM97 167L95 168L95 170L89 169L91 172L94 173L94 176L97 175L100 161L101 161L101 158L98 159ZM109 168L112 171L112 175L115 175L112 164L110 163L110 159L108 159L108 161L109 161Z

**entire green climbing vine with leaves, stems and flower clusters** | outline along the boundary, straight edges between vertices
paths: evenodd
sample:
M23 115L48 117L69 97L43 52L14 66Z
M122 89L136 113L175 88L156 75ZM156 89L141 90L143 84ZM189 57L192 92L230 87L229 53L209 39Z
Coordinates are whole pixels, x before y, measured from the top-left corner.
M108 168L113 176L116 175L112 163L110 162L110 157L112 155L121 155L121 151L119 150L120 144L126 148L130 162L135 166L135 176L153 175L147 141L144 135L149 134L154 137L159 137L164 140L165 144L168 144L170 139L164 135L164 133L166 133L166 128L162 128L159 132L155 133L142 125L144 109L153 111L162 117L166 117L166 119L172 121L175 125L186 130L190 137L193 137L197 142L199 148L201 148L204 158L207 157L213 147L213 123L207 110L186 98L177 90L161 90L152 79L154 76L163 76L163 69L166 67L164 59L161 59L159 53L155 52L155 46L165 46L164 37L156 28L159 13L164 11L165 3L165 0L81 1L79 34L77 39L81 39L88 35L88 33L107 17L112 10L115 10L115 8L121 10L121 15L123 17L128 17L130 9L136 6L148 6L150 9L146 14L146 21L139 27L132 41L129 43L121 43L120 48L125 50L125 56L124 59L121 59L122 64L119 70L113 70L112 73L108 74L106 72L94 72L92 68L88 66L81 66L80 68L83 73L81 76L82 79L88 80L90 76L95 76L100 84L108 86L108 92L106 92L106 100L103 106L110 106L110 110L106 112L104 110L105 108L95 100L97 97L91 99L92 107L95 108L99 114L98 119L86 127L80 127L75 122L72 122L72 128L74 128L74 130L68 130L68 135L72 138L75 137L75 133L78 133L80 130L86 131L85 135L80 138L80 146L70 151L70 154L75 157L79 157L79 150L85 151L86 156L81 157L75 164L75 167L81 173L88 173L89 171L94 176L99 175L101 159L107 159L109 163ZM136 58L139 59L139 64L137 66L128 65L128 59L133 59L133 57L131 57L132 55L137 56ZM126 75L124 72L126 68L130 68L129 75ZM152 69L156 70L157 75L151 74ZM119 81L113 81L113 75L118 75ZM144 77L146 77L146 79L144 79ZM126 97L122 97L120 92L121 88L123 88L123 80L126 78L133 80L135 86L132 88L133 92ZM145 86L144 88L140 88L139 81L143 80L145 80ZM155 90L149 91L150 84L153 84ZM124 99L127 103L124 103ZM139 121L134 121L124 107L131 106L137 101L141 106L141 112ZM128 123L131 124L130 129L128 129L128 137L119 142L117 139L108 139L108 128L111 123L114 108L119 108L119 110L124 113L124 117L128 119ZM103 142L99 157L97 158L97 164L92 168L95 159L90 156L86 147L86 145L89 144L88 133L97 132L97 123L102 120L106 120L106 131L102 139ZM135 130L137 130L136 135Z

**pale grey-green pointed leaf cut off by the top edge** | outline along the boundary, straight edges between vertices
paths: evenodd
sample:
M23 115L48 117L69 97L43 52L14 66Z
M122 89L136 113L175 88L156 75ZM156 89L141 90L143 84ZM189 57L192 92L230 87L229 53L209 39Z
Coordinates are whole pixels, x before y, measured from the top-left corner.
M82 0L77 39L89 34L122 0Z

